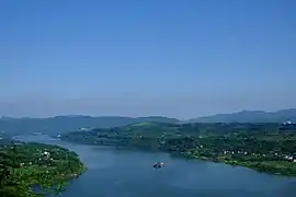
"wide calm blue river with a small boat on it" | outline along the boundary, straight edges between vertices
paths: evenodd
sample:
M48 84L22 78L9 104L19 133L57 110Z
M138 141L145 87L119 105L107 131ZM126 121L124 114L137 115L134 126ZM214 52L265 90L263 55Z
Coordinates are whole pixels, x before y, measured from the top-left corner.
M72 144L45 135L18 140L58 144L76 151L88 171L61 197L295 197L296 178L220 163L171 158L167 153ZM164 162L161 170L152 163Z

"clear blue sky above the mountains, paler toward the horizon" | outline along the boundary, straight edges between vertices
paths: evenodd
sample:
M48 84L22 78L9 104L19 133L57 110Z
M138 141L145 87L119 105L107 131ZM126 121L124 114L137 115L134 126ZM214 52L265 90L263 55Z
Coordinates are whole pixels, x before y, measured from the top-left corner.
M296 106L295 0L1 0L0 116Z

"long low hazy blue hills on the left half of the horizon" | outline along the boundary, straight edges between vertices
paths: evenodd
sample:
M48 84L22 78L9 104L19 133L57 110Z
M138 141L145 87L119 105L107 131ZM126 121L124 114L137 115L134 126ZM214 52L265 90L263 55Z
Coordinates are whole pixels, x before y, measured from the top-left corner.
M148 117L121 117L121 116L56 116L49 118L0 118L0 132L4 131L10 135L22 135L31 132L44 132L57 135L68 131L79 130L81 128L110 128L121 127L136 123L179 123L179 119L167 118L162 116Z

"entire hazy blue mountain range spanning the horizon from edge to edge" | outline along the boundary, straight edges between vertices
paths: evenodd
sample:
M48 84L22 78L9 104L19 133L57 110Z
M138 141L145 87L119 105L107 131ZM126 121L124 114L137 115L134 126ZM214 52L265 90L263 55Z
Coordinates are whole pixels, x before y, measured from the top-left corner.
M44 132L49 135L64 134L76 130L90 130L92 128L122 127L139 123L296 123L296 108L282 109L273 113L263 111L242 111L234 114L217 114L181 121L175 118L162 116L148 117L122 117L122 116L56 116L48 118L0 118L0 132L9 135L23 135L32 132Z

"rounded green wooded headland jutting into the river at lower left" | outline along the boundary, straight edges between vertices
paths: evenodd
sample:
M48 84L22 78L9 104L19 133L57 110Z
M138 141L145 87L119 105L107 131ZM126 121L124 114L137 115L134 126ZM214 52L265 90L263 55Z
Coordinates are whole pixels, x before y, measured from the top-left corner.
M83 171L79 157L68 149L43 143L5 143L0 147L0 196L31 197L60 192L68 178Z

